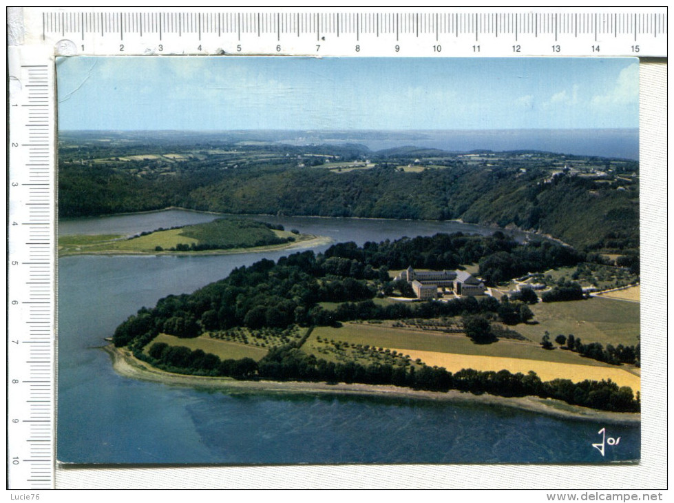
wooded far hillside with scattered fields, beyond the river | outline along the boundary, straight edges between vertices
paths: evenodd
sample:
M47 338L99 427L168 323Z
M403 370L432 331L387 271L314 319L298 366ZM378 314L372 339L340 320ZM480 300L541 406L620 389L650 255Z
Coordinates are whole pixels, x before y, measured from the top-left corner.
M59 216L179 206L231 214L461 219L536 230L585 251L638 256L634 161L193 141L67 138L59 146Z

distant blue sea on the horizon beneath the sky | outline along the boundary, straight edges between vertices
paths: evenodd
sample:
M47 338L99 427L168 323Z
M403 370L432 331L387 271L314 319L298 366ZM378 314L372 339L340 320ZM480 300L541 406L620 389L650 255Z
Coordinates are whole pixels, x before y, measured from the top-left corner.
M543 150L557 154L639 159L638 129L312 131L304 134L306 136L300 136L292 143L360 143L370 150L404 145L456 152Z

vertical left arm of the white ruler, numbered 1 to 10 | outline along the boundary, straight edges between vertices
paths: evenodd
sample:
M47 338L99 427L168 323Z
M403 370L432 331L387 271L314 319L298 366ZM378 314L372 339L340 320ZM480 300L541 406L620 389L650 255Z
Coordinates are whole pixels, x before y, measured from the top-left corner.
M55 115L52 59L10 48L8 481L54 485Z

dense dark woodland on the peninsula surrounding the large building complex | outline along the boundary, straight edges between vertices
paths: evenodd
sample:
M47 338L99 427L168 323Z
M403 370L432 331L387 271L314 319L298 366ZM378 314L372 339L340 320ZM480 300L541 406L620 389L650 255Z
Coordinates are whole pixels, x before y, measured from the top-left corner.
M501 261L491 260L498 257ZM114 334L116 346L141 348L158 333L197 337L204 331L244 326L280 327L333 325L356 319L395 320L434 318L472 313L494 313L504 322L526 321L528 309L504 299L485 296L456 298L448 302L395 302L377 305L376 296L403 289L407 282L391 281L389 269L403 265L436 268L458 267L462 260L481 260L485 278L520 274L517 267L543 271L580 263L585 256L569 247L541 240L518 244L501 233L465 236L461 233L432 237L402 238L393 242L338 243L316 256L304 251L280 258L263 259L250 267L234 269L227 278L193 294L168 296L154 309L143 308L120 325ZM423 260L420 262L419 260ZM411 261L411 262L410 262ZM483 267L483 263L487 264ZM494 263L494 265L492 265ZM507 264L509 269L504 269ZM492 268L493 267L493 268ZM404 286L401 285L404 283ZM335 311L319 302L339 302Z

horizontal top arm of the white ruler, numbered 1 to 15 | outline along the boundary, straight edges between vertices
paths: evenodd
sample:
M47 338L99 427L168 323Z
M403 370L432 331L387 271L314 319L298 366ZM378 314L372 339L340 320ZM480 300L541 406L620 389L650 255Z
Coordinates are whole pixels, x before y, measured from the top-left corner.
M635 12L41 12L61 54L666 56L666 9ZM387 44L388 43L388 44ZM361 54L357 54L361 53Z

